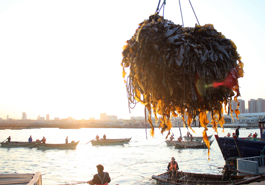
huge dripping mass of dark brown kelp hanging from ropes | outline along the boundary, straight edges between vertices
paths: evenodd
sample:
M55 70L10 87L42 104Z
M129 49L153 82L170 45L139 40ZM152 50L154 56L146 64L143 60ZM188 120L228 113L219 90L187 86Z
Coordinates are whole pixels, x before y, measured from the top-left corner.
M198 116L209 148L207 112L211 113L214 129L218 123L223 127L223 104L240 96L238 78L243 77L244 64L236 45L212 24L184 28L157 13L140 23L126 43L121 65L129 105L137 101L149 113L153 110L156 122L160 120L161 133L168 130L167 137L171 116L181 115L186 124L186 115L189 127ZM125 68L130 69L128 75ZM238 115L239 111L235 112ZM154 136L150 117L148 121Z

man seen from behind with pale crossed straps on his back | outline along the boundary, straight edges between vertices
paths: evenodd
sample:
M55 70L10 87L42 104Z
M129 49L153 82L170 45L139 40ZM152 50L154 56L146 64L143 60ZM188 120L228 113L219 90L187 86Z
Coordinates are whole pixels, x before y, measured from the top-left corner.
M96 184L96 185L108 185L110 183L110 176L108 172L104 172L104 167L99 164L97 165L97 174L93 176L93 179L87 181L87 184Z

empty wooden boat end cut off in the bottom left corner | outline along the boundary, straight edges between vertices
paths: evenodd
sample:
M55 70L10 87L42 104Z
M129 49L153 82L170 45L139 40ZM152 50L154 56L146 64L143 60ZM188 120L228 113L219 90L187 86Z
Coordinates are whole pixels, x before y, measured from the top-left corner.
M42 175L35 174L0 174L0 184L12 185L42 185Z

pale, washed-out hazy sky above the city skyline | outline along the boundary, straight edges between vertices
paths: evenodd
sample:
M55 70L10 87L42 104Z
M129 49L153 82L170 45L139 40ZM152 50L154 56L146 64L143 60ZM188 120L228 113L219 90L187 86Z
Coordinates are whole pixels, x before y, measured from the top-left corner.
M184 26L194 27L189 1L180 3ZM213 24L236 44L246 108L248 100L265 98L265 1L191 3L200 25ZM129 113L121 52L157 5L158 0L0 0L0 117L144 116L140 104ZM164 17L182 24L177 0L166 0Z

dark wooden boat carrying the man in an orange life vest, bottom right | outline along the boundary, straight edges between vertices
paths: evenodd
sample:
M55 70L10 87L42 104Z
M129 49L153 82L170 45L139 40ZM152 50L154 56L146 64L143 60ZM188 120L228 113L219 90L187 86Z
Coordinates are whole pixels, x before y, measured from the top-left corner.
M222 177L222 175L195 174L178 171L176 179L169 178L168 172L165 172L158 176L153 175L152 179L155 179L157 184L161 185L241 185L249 184L255 181L263 181L265 179L265 174L256 176L232 175L231 181L221 181Z

